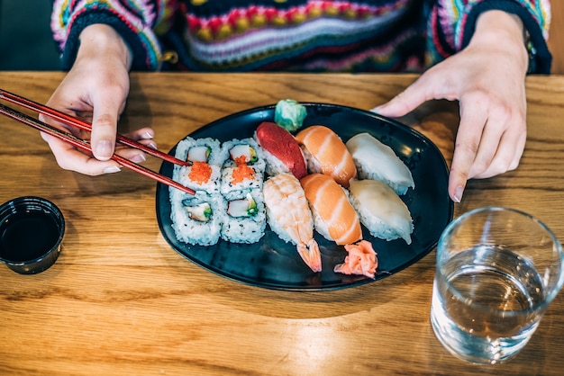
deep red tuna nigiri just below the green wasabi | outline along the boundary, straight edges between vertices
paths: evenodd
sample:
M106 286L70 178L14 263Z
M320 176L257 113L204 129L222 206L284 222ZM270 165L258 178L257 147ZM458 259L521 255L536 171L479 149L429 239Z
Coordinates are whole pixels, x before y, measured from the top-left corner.
M307 175L304 153L289 131L264 121L255 131L254 139L263 150L267 175L291 173L298 180Z

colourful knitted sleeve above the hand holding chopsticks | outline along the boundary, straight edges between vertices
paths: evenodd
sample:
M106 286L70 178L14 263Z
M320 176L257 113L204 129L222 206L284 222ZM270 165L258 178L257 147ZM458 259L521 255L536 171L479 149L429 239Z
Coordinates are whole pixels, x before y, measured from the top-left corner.
M176 2L166 0L55 0L51 30L61 51L61 67L72 67L79 35L93 23L108 24L132 50L132 69L159 68L160 47L154 30L163 27Z

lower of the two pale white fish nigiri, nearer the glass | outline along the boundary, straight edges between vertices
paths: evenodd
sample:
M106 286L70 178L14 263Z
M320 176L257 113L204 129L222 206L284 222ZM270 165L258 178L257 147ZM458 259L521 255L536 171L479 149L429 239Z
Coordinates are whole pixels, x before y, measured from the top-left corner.
M350 181L350 201L370 235L385 240L403 238L411 244L414 223L411 213L396 192L377 180Z

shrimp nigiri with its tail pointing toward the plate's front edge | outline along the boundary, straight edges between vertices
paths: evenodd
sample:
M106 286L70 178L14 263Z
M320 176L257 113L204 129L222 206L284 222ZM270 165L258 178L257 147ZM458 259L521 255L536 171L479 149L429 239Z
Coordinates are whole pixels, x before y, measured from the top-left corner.
M296 245L297 253L314 272L321 272L321 253L314 239L314 219L296 176L279 174L262 188L270 228Z

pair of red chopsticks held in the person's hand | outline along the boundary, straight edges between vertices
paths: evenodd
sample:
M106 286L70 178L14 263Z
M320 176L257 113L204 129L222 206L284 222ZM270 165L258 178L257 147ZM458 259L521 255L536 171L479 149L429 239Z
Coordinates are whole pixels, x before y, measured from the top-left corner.
M87 130L87 131L91 131L92 130L92 125L87 122L87 121L83 121L81 119L77 119L73 116L68 115L67 113L64 112L59 112L53 108L50 108L48 106L45 106L43 104L40 103L36 103L33 102L29 99L23 98L20 95L17 94L12 94L9 92L6 92L3 89L0 89L0 99L4 99L7 102L10 103L14 103L17 104L19 106L22 106L28 110L32 110L35 112L39 112L42 113L43 115L47 115L50 118L60 121L62 123L68 124L70 126L73 127L77 127L81 130ZM71 145L73 145L76 148L80 148L88 153L92 153L92 148L90 146L90 144L82 139L78 139L77 137L73 136L72 134L65 132L63 130L59 130L58 128L52 127L49 124L46 124L42 121L39 121L37 119L32 118L31 116L26 115L23 112L18 112L10 107L5 106L4 104L0 104L0 113L4 114L5 116L15 120L15 121L20 121L23 124L26 124L30 127L32 127L35 130L40 130L42 132L45 132L47 134L50 134L51 136L54 136L58 139L62 139L63 141L67 141L68 143L70 143ZM125 146L128 146L130 148L137 148L142 150L143 152L149 154L150 156L153 157L158 157L164 161L167 161L169 163L178 165L178 166L189 166L190 163L177 159L176 157L170 156L166 153L163 153L159 150L156 150L154 148L150 148L146 145L143 145L133 139L128 139L122 135L117 135L117 142L119 142L120 144L123 144ZM125 159L124 157L120 157L116 154L114 154L112 156L112 159L114 161L116 161L117 163L120 164L120 166L124 166L126 168L129 168L132 171L135 171L137 173L140 173L141 175L145 175L148 176L156 181L158 181L159 183L162 184L167 184L168 186L174 187L182 192L186 192L189 194L195 194L196 192L190 188L187 188L186 186L177 183L176 181L168 178L168 176L165 175L160 175L155 173L154 171L151 171L150 169L137 165L136 163L133 163L132 161L130 161L129 159Z

